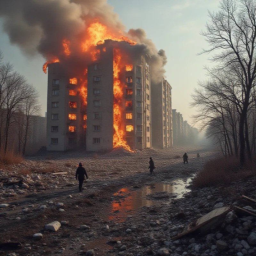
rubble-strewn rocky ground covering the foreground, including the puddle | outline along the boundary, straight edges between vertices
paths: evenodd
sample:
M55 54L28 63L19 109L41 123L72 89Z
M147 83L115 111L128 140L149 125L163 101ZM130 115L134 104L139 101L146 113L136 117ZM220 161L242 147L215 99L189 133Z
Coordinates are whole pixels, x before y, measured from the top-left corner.
M185 151L186 165L180 158ZM1 250L0 244L0 255L255 255L255 218L233 211L207 234L171 239L213 209L239 205L241 195L255 199L254 179L228 188L188 187L215 154L202 147L104 155L79 151L42 154L4 167L0 178L23 175L27 186L0 183L0 243L21 243L17 250ZM148 172L149 156L155 175ZM89 176L83 192L74 177L80 161Z

